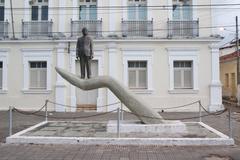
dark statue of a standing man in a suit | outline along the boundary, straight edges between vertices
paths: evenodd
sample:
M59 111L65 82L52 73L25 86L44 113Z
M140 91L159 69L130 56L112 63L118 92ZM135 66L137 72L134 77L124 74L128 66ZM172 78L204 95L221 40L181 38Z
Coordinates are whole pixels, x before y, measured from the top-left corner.
M91 78L91 60L93 59L93 42L88 35L87 28L82 29L83 36L78 38L76 46L76 58L80 59L81 78L85 78L85 67L87 78Z

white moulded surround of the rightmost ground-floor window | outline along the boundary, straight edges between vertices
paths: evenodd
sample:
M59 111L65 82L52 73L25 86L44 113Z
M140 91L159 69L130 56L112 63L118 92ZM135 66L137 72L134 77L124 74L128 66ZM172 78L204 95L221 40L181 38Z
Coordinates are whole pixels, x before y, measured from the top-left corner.
M198 93L199 48L166 48L169 63L169 93ZM174 88L174 61L192 61L192 89Z

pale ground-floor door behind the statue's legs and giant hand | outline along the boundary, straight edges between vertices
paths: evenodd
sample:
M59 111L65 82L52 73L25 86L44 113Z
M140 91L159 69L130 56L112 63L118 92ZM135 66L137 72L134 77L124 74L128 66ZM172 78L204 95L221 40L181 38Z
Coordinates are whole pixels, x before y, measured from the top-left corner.
M93 60L91 62L92 77L98 76L98 61ZM76 62L76 74L80 75L80 63ZM98 89L94 90L82 90L76 88L77 97L77 111L96 110Z

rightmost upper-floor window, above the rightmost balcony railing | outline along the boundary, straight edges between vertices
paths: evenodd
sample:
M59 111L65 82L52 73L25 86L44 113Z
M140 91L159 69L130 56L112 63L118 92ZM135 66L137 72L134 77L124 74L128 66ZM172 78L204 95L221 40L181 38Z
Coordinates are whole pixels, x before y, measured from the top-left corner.
M191 0L173 0L173 20L192 20L191 5Z

